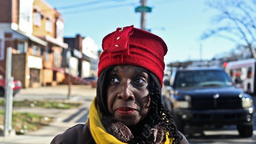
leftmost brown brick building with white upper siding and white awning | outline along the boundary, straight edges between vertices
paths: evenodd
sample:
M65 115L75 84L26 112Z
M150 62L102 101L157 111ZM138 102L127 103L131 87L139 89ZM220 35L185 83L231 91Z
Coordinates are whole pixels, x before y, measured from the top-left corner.
M38 86L43 78L41 52L47 42L32 35L33 0L0 0L0 75L5 76L6 49L13 48L12 76L24 88ZM35 73L36 71L36 73Z

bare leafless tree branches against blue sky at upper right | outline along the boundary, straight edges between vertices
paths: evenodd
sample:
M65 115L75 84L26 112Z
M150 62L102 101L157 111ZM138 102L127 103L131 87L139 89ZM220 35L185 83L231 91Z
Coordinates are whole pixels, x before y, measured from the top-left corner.
M220 12L213 21L217 23L201 36L206 39L218 36L249 49L256 59L256 0L209 0L211 8Z

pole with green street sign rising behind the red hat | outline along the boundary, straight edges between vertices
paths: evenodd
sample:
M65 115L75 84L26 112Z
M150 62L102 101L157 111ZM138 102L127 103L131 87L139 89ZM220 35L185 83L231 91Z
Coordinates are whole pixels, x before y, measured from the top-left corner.
M135 8L135 12L140 12L140 28L146 30L146 12L151 12L152 8L146 6L147 0L140 0L140 6Z

